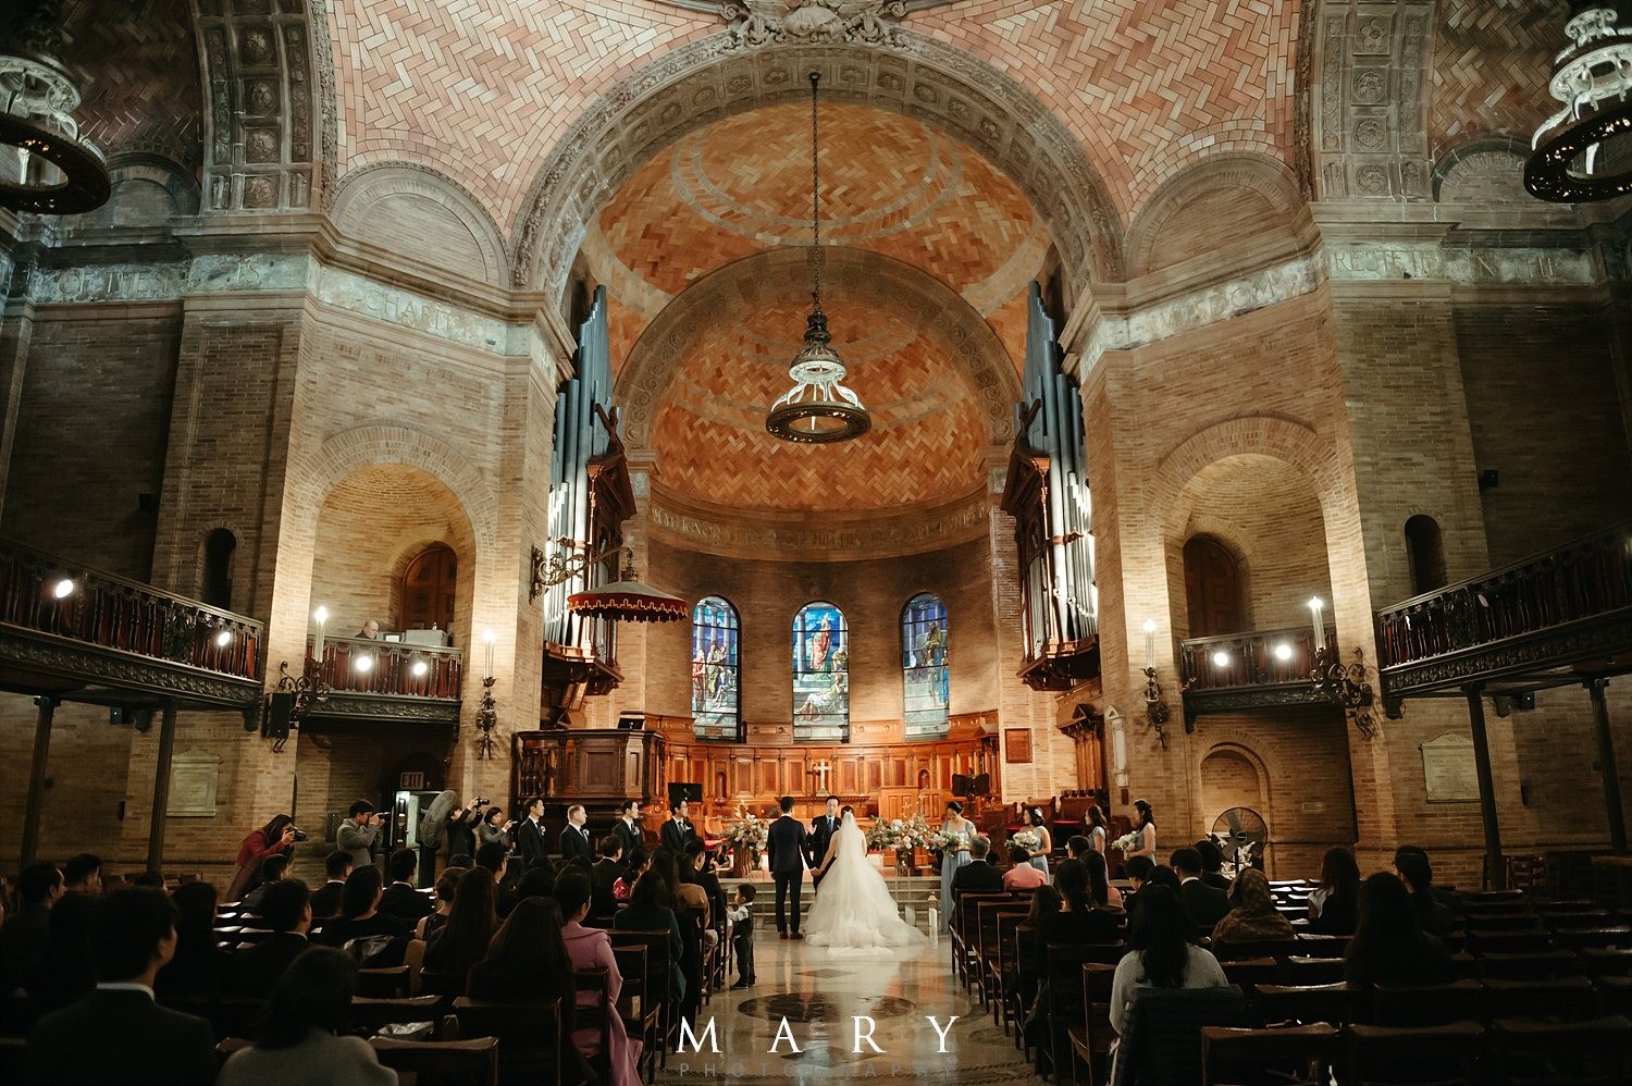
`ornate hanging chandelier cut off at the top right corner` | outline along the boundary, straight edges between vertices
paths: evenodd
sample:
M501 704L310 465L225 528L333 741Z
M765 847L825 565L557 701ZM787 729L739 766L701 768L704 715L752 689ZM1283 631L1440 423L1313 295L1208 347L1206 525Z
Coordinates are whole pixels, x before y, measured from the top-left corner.
M1549 91L1563 109L1536 129L1524 188L1554 204L1632 193L1632 26L1606 0L1575 0Z

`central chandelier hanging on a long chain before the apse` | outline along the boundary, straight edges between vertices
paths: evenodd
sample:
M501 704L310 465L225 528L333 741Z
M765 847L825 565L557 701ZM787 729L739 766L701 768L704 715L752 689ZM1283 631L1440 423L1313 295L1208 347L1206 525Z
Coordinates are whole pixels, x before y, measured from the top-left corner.
M777 397L765 416L765 430L783 441L831 444L860 438L873 426L860 397L840 384L844 363L827 335L827 314L821 310L821 165L816 127L816 85L811 72L811 315L805 325L805 348L793 356L788 377L793 387Z

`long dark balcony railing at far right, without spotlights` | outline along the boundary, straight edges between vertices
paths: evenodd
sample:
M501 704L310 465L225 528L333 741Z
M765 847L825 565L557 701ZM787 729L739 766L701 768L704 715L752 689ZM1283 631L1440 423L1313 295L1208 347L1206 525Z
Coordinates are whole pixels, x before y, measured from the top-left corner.
M1377 612L1386 696L1632 647L1632 521Z

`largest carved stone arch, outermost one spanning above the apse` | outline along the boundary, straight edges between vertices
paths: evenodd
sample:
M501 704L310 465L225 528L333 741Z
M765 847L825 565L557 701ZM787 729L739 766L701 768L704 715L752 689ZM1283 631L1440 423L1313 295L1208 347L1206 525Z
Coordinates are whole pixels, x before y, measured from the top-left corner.
M1028 90L945 42L901 31L891 49L803 42L734 51L715 34L664 54L596 100L539 168L511 240L517 287L560 297L584 230L654 152L710 121L803 98L805 72L829 100L932 124L986 155L1031 199L1072 274L1120 279L1120 217L1071 131Z

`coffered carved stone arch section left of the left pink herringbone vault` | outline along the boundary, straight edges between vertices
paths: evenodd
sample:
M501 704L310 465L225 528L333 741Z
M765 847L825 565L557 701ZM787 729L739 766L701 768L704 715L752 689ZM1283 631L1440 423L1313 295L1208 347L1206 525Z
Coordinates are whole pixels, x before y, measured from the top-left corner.
M325 207L338 121L328 0L191 0L204 209Z

